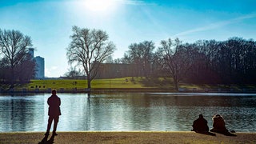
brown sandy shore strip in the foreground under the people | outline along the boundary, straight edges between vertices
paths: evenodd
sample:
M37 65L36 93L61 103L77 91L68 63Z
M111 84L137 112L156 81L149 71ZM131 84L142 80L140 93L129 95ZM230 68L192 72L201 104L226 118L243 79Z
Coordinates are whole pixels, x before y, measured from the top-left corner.
M47 139L47 140L46 140ZM195 132L58 132L45 138L43 132L0 133L0 143L256 143L256 133L198 134Z

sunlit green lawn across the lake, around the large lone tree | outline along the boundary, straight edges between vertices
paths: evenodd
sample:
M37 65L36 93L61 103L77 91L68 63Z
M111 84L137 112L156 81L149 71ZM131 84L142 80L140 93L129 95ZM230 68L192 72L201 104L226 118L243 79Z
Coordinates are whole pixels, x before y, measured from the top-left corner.
M26 88L27 90L40 89L64 89L71 90L74 88L85 89L87 88L86 80L75 79L56 79L56 80L31 80L31 82L25 86L19 86L19 88ZM157 78L110 78L110 79L94 79L91 82L92 89L136 89L136 88L173 88L169 79Z

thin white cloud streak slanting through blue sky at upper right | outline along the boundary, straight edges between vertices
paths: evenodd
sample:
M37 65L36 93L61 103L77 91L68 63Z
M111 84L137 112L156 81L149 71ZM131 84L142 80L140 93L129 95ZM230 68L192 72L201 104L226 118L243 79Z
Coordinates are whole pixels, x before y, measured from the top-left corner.
M174 37L187 35L187 34L193 34L193 33L200 32L200 31L214 30L214 29L217 29L219 27L227 26L227 25L230 25L230 24L236 23L236 22L241 22L245 19L250 19L250 18L256 18L256 14L248 14L248 15L245 15L245 16L242 16L242 17L233 18L233 19L230 19L230 20L222 21L222 22L215 22L213 24L210 24L209 26L203 26L203 27L199 27L199 28L195 28L195 29L192 29L192 30L187 30L187 31L175 34Z

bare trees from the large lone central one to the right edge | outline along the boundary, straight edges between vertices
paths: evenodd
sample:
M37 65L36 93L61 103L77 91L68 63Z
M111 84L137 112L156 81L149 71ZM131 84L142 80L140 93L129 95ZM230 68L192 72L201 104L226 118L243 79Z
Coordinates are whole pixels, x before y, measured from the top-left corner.
M102 30L73 27L72 42L67 48L69 62L78 62L87 75L88 87L102 62L110 62L115 46ZM178 38L133 43L123 58L113 63L130 64L137 77L171 77L178 83L250 84L256 83L256 42L230 38L223 42L204 40L182 43Z

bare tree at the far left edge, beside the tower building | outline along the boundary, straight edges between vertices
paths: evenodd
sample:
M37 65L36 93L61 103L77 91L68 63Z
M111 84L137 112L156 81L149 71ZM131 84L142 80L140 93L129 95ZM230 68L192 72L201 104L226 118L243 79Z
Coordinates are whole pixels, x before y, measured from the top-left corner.
M32 46L30 37L24 36L18 30L0 29L0 51L10 66L11 87L14 87L14 69L26 56L30 46Z

